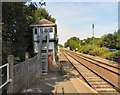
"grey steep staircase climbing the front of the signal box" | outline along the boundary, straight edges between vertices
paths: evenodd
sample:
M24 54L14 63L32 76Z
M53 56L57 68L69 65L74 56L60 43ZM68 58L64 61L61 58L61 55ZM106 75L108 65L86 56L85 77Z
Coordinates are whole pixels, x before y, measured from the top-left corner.
M45 48L43 48L43 40L45 40ZM40 32L39 36L39 46L38 46L38 60L41 64L42 75L47 74L48 72L48 51L49 51L49 31L44 37L43 32Z

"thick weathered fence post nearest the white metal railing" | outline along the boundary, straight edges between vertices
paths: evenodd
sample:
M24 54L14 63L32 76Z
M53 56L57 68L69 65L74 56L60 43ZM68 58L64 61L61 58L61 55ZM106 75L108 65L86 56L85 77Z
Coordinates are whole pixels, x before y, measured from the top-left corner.
M13 62L14 62L14 56L9 55L8 56L8 64L9 64L9 78L10 83L8 84L7 93L13 93Z

